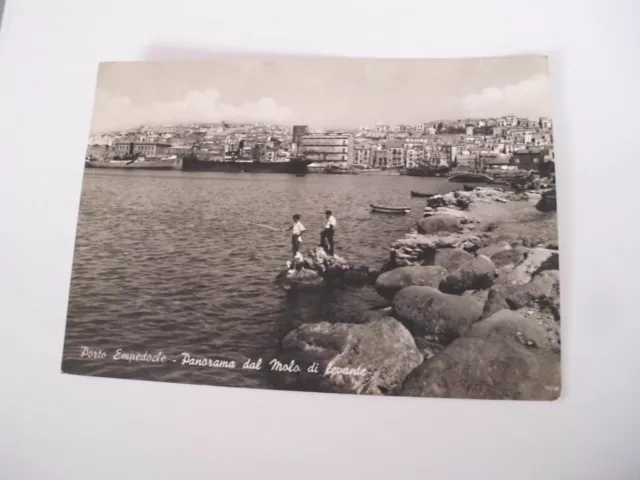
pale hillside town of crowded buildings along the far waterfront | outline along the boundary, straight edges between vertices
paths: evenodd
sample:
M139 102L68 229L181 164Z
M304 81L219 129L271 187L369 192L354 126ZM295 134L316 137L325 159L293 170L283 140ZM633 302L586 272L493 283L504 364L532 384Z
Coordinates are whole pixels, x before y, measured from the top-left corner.
M499 118L384 125L357 130L312 130L220 122L140 128L94 134L87 157L147 159L194 155L200 161L312 161L310 169L540 170L555 161L552 122L514 115Z

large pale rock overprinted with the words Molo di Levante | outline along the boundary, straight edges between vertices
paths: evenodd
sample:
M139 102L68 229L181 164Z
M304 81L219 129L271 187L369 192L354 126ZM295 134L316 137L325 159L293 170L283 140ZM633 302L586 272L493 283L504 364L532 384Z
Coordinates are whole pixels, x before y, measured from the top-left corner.
M394 394L423 361L409 331L393 318L364 324L304 324L282 340L279 361L300 372L274 373L276 381L297 390L370 395ZM318 364L318 373L308 367Z

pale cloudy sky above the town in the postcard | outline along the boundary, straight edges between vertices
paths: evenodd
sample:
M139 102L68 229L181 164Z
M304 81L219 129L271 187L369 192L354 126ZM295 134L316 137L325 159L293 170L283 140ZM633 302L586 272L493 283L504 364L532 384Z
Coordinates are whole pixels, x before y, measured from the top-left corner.
M219 121L359 128L549 116L547 58L102 63L92 133Z

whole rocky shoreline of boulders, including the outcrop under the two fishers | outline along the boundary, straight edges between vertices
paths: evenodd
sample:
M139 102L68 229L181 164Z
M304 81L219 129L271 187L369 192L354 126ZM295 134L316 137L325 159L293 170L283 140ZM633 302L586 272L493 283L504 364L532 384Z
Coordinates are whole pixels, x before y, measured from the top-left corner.
M315 249L287 290L373 285L388 307L302 324L281 341L282 388L475 399L560 396L559 251L544 192L477 187L427 199L380 269ZM354 373L356 372L356 373ZM365 373L363 373L365 372Z

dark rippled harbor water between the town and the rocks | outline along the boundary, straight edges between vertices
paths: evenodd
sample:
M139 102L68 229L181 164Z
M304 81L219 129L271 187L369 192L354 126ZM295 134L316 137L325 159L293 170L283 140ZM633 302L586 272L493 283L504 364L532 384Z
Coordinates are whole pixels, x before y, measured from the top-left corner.
M268 361L296 324L348 319L381 299L370 287L287 295L275 283L291 257L285 228L307 227L303 249L319 244L331 209L336 253L378 268L388 247L422 216L441 178L389 175L86 171L68 307L63 371L117 378L271 388L264 371L114 360L162 351ZM409 215L372 213L370 203L410 206ZM108 353L80 358L82 347Z

